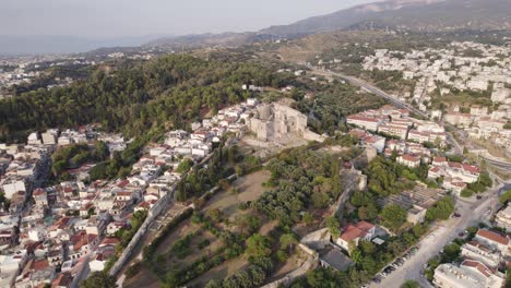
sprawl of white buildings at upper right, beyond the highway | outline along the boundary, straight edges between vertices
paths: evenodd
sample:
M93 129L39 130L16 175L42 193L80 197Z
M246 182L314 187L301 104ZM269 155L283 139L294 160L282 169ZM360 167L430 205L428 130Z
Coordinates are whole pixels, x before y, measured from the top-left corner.
M494 142L511 152L511 49L507 46L464 41L443 49L427 48L409 52L388 49L367 56L368 71L399 71L414 89L395 95L429 113L431 119L466 130L471 137ZM463 92L488 95L486 104L443 101ZM486 98L486 97L485 97ZM443 103L441 109L433 105Z

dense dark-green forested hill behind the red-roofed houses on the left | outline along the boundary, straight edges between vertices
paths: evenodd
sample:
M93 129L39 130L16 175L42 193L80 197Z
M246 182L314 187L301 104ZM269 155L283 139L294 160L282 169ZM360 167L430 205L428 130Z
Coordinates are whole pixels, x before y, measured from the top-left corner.
M100 123L139 136L152 127L183 128L202 113L249 97L241 85L281 87L289 73L262 64L205 61L170 55L147 62L96 68L68 87L37 89L0 100L0 141L24 140L28 131Z

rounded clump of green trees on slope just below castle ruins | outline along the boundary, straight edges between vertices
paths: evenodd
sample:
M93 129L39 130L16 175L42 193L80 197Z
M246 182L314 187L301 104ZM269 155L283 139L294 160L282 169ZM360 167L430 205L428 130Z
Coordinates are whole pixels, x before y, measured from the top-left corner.
M302 211L326 208L343 190L338 160L308 148L283 152L266 169L272 173L268 184L275 189L264 192L252 206L283 227L305 221Z

